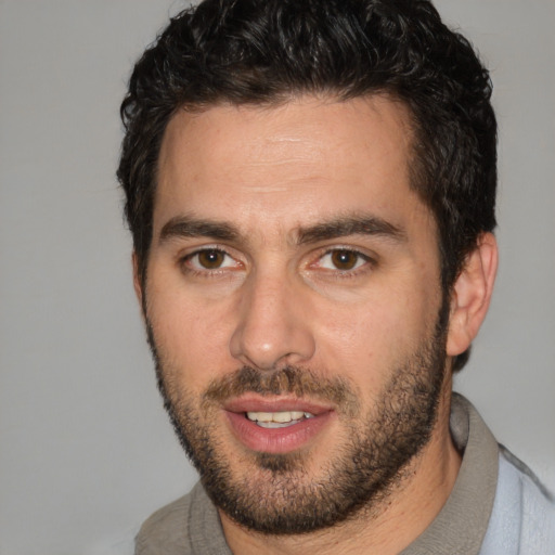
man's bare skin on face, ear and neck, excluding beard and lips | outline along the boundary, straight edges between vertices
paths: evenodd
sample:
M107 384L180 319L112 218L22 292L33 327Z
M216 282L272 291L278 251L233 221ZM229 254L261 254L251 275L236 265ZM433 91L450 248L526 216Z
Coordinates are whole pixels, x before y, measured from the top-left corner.
M243 365L292 364L345 379L372 414L392 369L429 339L442 301L436 223L409 186L408 122L403 105L378 95L173 116L159 157L147 280L143 289L135 264L135 289L176 398L201 398ZM301 240L346 217L374 218L395 233ZM183 234L184 218L234 233ZM216 268L206 267L203 249L224 253ZM351 253L353 268L338 269L331 251ZM495 242L482 235L451 294L448 367L478 332L495 268ZM446 375L430 441L372 511L301 537L254 533L220 512L232 551L325 554L340 544L341 553L387 555L411 543L441 509L461 463ZM224 411L210 420L230 470L263 483L268 470L254 464ZM296 448L307 480L322 475L347 433L332 411Z

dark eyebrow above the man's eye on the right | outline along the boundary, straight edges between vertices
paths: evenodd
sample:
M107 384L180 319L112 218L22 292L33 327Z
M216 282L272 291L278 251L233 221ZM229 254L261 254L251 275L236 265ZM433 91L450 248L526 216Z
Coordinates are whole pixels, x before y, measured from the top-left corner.
M406 241L402 228L375 216L348 216L301 228L297 241L299 244L318 243L348 235L380 235L399 243Z

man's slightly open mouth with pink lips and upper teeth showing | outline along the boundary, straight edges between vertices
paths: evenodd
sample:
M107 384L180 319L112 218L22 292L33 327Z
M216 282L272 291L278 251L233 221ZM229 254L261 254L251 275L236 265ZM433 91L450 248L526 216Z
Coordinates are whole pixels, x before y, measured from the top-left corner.
M331 406L280 398L234 399L223 410L235 439L259 453L289 453L306 448L335 416Z

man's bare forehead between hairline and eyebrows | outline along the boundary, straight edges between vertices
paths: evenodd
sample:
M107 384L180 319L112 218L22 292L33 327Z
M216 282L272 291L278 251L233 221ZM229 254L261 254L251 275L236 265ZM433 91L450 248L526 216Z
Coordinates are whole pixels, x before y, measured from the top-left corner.
M353 211L423 210L405 106L386 96L178 112L158 163L154 228L186 212L270 233ZM401 209L402 208L402 209Z

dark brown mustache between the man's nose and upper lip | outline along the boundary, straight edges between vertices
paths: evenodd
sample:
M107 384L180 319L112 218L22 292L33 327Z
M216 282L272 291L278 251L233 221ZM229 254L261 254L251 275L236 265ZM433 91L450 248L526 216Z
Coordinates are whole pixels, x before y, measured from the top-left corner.
M319 399L348 413L357 412L360 404L353 387L346 379L323 377L293 365L273 371L243 366L212 380L203 395L203 401L221 403L249 392L263 397L292 393L298 398Z

